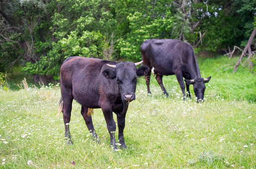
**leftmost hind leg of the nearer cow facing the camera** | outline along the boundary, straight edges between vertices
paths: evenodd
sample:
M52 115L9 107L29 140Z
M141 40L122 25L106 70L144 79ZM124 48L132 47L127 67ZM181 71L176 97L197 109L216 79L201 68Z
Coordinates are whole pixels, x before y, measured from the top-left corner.
M68 140L68 144L72 144L71 134L69 131L69 122L71 117L73 95L72 93L68 93L68 94L62 95L62 98L63 98L63 120L65 125L65 137Z

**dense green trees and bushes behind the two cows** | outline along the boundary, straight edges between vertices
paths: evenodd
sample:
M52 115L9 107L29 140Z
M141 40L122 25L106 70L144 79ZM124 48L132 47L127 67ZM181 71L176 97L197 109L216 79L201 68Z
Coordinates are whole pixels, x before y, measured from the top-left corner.
M253 0L5 0L0 72L17 63L47 83L73 55L139 61L151 38L184 40L196 52L243 47L255 14Z

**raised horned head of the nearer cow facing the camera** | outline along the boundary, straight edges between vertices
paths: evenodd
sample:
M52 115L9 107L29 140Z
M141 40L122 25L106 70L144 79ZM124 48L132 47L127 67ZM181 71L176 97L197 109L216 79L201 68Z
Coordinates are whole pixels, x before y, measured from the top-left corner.
M121 93L122 101L135 100L135 91L137 84L137 76L144 76L149 71L149 67L141 66L136 68L139 64L133 62L120 62L116 65L107 64L113 69L105 69L102 73L105 78L115 79Z

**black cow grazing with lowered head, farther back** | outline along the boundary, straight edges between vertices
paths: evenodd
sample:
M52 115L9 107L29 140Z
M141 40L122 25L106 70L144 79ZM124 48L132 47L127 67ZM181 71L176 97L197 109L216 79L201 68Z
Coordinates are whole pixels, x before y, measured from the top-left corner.
M185 78L188 97L191 98L189 85L193 84L194 92L198 101L203 101L205 84L211 79L202 78L199 66L196 62L195 53L191 45L175 39L150 39L145 40L141 45L141 55L143 64L157 74L156 79L162 91L168 97L168 93L162 82L163 75L176 75L185 100ZM146 74L145 80L149 89L150 71Z

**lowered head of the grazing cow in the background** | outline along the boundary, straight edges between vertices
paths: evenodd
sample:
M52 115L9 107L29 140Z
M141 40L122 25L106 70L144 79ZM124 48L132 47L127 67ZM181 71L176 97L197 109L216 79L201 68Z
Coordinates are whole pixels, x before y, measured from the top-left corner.
M204 100L204 91L205 91L205 84L208 83L211 79L211 76L208 78L194 78L192 80L185 79L185 82L190 85L193 84L194 92L197 97L197 101L201 102Z

